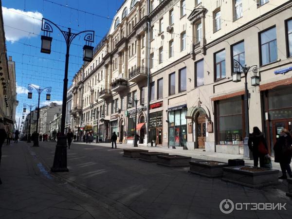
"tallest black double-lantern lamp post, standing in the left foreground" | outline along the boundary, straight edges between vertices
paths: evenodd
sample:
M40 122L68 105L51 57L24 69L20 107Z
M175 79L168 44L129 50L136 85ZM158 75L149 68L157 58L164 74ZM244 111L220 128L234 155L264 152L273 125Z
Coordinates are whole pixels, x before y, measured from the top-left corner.
M64 75L64 86L63 86L63 104L62 104L62 118L61 118L61 134L57 138L57 145L55 149L54 164L51 167L52 172L64 172L68 171L67 168L67 138L65 136L65 119L66 119L66 103L67 103L67 87L68 87L68 65L69 65L69 50L73 39L82 34L86 33L84 40L86 45L83 47L83 60L90 62L93 57L93 47L91 43L94 42L94 31L81 31L77 34L71 33L71 28L68 31L61 30L54 22L42 18L41 30L44 32L44 36L41 37L41 53L51 53L52 37L50 34L53 33L52 25L54 25L63 35L66 41L66 61L65 61L65 75Z

